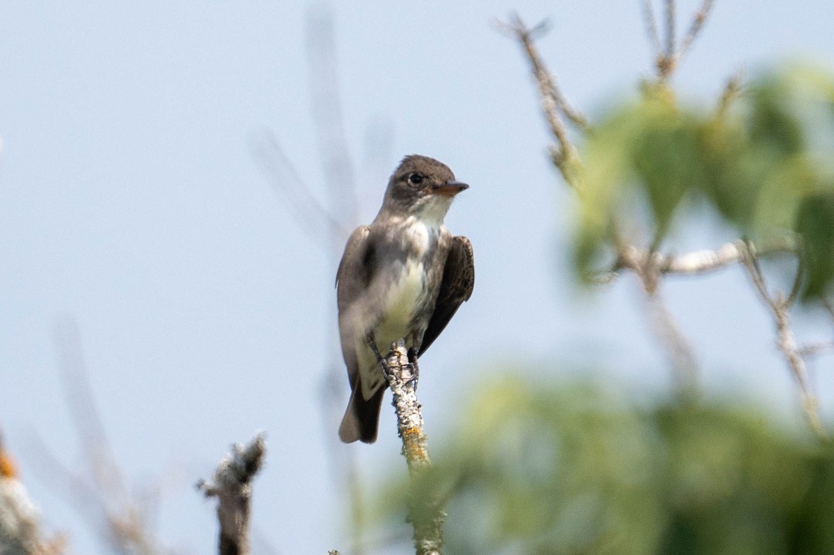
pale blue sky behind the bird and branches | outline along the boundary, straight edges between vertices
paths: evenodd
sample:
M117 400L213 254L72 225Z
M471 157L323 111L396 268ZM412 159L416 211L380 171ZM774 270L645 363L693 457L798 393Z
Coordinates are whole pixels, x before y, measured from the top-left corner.
M698 2L679 3L683 19ZM0 424L48 526L68 530L76 552L95 547L92 533L33 469L35 434L68 466L80 461L53 343L63 313L78 320L125 472L164 483L167 545L213 548L214 509L193 482L230 442L265 429L259 534L283 553L349 546L327 462L335 423L324 425L319 404L337 352L334 261L299 230L249 148L252 133L271 129L322 196L304 29L324 6L0 4ZM470 383L510 360L547 362L554 373L616 367L637 388L664 383L635 283L591 296L570 281L572 198L545 155L520 48L491 25L513 10L529 23L550 17L542 55L594 114L651 74L638 2L330 9L363 219L405 154L438 158L471 186L447 224L475 245L475 294L423 359L429 432L452 426ZM718 0L676 84L709 97L763 62L810 56L831 66L832 21L834 5L822 0ZM381 159L369 135L390 137ZM708 224L681 248L728 237ZM741 272L671 283L669 296L709 383L763 383L798 412L771 323ZM335 413L347 393L345 379ZM386 404L378 443L353 447L366 479L404 472L391 412Z

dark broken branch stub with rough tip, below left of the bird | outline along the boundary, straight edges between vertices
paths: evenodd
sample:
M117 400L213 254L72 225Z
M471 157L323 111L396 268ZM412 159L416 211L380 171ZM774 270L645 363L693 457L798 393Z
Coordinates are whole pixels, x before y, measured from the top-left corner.
M231 452L220 460L212 482L197 483L205 497L218 498L219 555L249 554L252 479L264 462L264 453L264 433L258 433L245 447L235 443Z

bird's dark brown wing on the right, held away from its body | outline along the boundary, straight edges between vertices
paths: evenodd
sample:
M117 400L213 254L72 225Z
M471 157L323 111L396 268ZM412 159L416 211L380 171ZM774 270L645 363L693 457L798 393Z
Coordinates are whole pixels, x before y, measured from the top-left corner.
M418 357L425 353L425 350L437 339L457 312L458 307L464 301L469 300L474 287L475 257L472 254L472 243L462 236L453 237L443 268L443 280L440 282L435 313L431 315L429 327L423 335L420 352L417 353Z

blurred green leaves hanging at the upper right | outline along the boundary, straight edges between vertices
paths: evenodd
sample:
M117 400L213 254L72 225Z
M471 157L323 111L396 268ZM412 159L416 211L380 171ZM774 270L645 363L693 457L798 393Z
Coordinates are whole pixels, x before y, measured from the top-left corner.
M700 208L691 199L754 240L800 233L803 298L834 279L834 77L826 72L771 72L710 108L647 85L595 126L580 154L583 278L599 271L616 225L645 214L660 243L682 211Z

